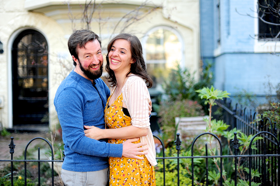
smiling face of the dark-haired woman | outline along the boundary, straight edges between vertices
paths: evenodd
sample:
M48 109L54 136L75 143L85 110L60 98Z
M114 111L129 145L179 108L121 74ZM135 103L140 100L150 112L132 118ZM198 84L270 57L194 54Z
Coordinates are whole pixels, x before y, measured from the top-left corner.
M126 73L130 70L131 64L134 63L131 57L130 43L124 39L114 41L108 57L110 69L114 73Z

